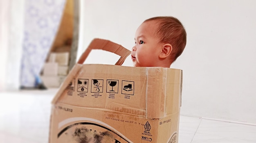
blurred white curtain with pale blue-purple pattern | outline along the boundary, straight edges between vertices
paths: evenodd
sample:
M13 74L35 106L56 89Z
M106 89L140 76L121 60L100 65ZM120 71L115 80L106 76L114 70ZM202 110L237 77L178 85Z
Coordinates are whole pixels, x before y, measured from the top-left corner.
M21 86L35 87L61 22L65 0L26 0Z

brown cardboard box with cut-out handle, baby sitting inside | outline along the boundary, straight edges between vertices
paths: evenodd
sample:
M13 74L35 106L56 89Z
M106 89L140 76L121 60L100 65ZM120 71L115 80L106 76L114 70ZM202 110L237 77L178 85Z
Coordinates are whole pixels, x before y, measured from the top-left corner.
M121 58L83 65L95 48ZM49 143L178 143L182 70L120 66L128 55L92 41L52 101Z

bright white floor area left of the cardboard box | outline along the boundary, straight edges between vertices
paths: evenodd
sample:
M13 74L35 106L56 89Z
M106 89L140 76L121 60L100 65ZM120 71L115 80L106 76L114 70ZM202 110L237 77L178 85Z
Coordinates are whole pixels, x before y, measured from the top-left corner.
M0 93L0 108L4 109L0 113L0 142L47 143L51 101L56 91Z

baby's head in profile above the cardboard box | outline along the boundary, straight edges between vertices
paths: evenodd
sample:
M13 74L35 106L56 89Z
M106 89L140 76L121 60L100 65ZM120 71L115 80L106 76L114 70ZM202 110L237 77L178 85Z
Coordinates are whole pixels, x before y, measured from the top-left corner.
M135 33L135 67L170 67L186 46L186 31L175 17L145 20Z

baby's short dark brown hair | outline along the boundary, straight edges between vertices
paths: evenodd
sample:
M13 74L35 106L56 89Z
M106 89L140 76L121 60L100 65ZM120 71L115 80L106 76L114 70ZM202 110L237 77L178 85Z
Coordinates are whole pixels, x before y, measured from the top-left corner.
M160 42L172 45L171 58L173 61L179 57L186 46L186 30L180 20L171 16L152 17L144 22L155 21L158 24L157 37Z

